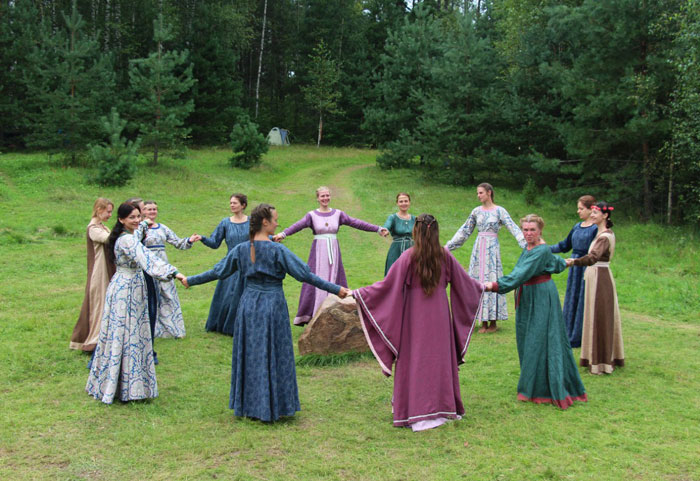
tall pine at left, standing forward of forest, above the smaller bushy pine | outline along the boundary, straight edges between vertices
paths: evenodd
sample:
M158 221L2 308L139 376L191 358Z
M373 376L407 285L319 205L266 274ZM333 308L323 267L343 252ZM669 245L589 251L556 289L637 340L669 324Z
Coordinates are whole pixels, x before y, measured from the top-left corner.
M162 149L182 144L190 129L185 119L194 102L183 95L195 84L193 65L187 63L187 50L166 50L165 42L173 38L172 30L160 14L153 21L156 51L148 57L129 62L129 80L135 101L131 116L138 126L142 144L153 149L153 165L158 164Z

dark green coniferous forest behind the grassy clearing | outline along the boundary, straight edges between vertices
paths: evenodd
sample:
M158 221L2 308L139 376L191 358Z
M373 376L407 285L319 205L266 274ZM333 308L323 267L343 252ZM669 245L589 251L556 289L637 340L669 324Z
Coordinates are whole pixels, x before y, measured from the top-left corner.
M252 122L697 224L699 57L700 0L0 0L0 150L157 164Z

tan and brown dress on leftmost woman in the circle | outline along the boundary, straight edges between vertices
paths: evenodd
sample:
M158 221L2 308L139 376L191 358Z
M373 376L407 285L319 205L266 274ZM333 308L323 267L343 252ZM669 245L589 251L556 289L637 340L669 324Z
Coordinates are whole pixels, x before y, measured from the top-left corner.
M87 227L88 275L85 285L85 298L80 309L80 317L70 337L70 348L93 351L100 335L102 308L109 280L114 274L114 264L107 259L106 243L109 228L97 219L92 219Z

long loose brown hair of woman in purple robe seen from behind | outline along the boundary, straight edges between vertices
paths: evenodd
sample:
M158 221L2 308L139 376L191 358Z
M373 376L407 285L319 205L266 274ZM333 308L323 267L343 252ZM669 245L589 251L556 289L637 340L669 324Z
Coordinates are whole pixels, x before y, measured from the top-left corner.
M423 292L433 293L442 274L442 260L445 251L440 245L440 229L437 219L430 214L421 214L413 226L413 269L420 278Z

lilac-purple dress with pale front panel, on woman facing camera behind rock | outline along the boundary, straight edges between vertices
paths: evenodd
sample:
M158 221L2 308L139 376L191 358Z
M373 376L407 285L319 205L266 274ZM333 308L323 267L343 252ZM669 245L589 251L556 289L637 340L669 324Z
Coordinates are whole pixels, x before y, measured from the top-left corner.
M308 262L311 272L321 279L347 287L348 281L345 278L340 245L336 237L340 226L343 225L368 232L381 230L381 227L354 219L342 210L331 209L330 212L319 212L318 210L308 212L301 220L284 229L282 234L283 237L288 237L302 229L311 229L314 233ZM326 291L317 289L310 284L305 283L301 286L299 309L294 318L294 325L307 324L327 296Z

